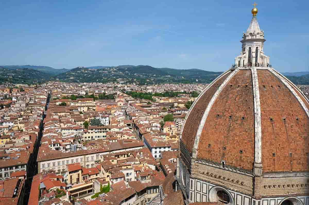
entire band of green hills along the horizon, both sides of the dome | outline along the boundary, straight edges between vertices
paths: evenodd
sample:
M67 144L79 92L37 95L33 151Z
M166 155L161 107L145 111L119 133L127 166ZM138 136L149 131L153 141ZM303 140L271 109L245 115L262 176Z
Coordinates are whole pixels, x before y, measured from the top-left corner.
M19 81L41 82L60 80L65 82L116 82L117 79L141 85L152 83L210 83L222 72L211 72L201 69L155 68L149 65L91 66L73 69L55 69L49 66L5 65L0 66L0 82ZM21 72L21 70L24 70ZM38 72L35 72L38 71ZM15 74L16 72L16 74ZM29 75L33 73L33 75ZM295 84L309 84L309 72L286 72ZM11 79L8 79L11 78Z

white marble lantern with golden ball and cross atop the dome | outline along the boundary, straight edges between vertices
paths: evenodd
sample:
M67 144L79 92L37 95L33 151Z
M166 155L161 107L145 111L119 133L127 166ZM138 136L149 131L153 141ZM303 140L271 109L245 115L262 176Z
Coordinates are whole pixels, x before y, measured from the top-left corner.
M269 56L264 55L264 31L260 29L256 19L258 12L254 2L254 8L251 10L252 19L246 32L243 32L241 52L235 58L237 67L260 66L267 67L269 65Z

